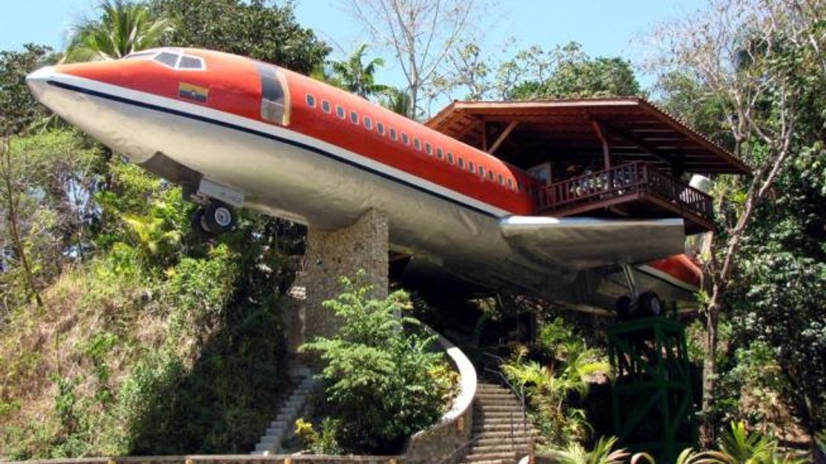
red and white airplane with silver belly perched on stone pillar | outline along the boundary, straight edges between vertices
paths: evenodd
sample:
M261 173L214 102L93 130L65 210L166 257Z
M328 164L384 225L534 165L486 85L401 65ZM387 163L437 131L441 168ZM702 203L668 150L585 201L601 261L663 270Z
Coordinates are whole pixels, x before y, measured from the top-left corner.
M182 185L205 234L231 230L240 207L320 230L376 208L393 252L474 285L625 314L695 306L700 269L682 254L681 218L537 215L533 174L276 65L161 48L45 67L26 83L64 120Z

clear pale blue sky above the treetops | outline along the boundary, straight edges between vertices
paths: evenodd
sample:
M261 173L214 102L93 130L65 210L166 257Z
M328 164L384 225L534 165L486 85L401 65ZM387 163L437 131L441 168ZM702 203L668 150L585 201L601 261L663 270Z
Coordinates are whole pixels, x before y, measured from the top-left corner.
M297 17L334 46L334 58L367 38L344 10L346 0L298 0ZM701 0L500 0L482 16L483 50L498 50L510 37L517 48L580 42L592 56L619 55L638 63L643 41L653 26L692 12ZM0 50L19 49L26 42L65 44L66 31L78 19L94 15L97 0L0 0ZM378 74L381 82L401 85L403 78L392 55ZM651 77L643 75L643 84Z

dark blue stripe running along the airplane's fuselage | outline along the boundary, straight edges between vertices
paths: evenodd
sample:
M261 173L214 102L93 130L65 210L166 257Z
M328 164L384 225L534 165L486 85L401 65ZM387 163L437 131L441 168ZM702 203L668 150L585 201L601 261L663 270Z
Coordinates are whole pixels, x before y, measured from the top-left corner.
M413 188L415 190L418 190L419 192L425 192L429 195L436 196L437 198L439 198L441 200L449 201L449 202L451 202L455 205L462 206L464 208L467 208L468 210L477 212L481 215L487 215L489 217L496 218L496 219L498 219L500 217L499 215L495 215L495 214L491 213L490 211L482 210L481 208L478 208L477 206L468 205L467 203L464 203L463 201L458 201L458 200L456 200L454 198L451 198L449 196L445 196L445 195L443 195L439 192L434 192L434 191L432 191L428 188L416 185L413 182L408 182L404 179L397 178L396 176L393 176L392 174L383 173L382 171L379 171L377 169L369 168L368 166L364 166L363 164L356 163L353 160L343 158L339 155L330 153L330 152L328 152L324 149L314 147L310 144L304 144L304 143L299 142L297 140L288 139L288 138L281 137L281 136L278 136L278 135L268 134L268 133L262 132L260 130L249 129L249 127L244 127L243 125L236 125L236 124L232 124L230 122L219 121L219 120L207 117L207 116L195 115L195 114L189 113L187 111L180 111L180 110L175 110L173 108L160 107L158 105L153 105L151 103L146 103L146 102L138 102L138 101L132 100L130 98L119 97L117 95L112 95L112 94L106 93L106 92L98 92L97 90L92 90L92 89L89 89L89 88L82 88L82 87L78 87L78 86L68 84L68 83L61 83L61 82L55 81L55 80L49 80L48 83L50 85L55 86L55 87L64 88L66 90L71 90L73 92L86 93L88 95L92 95L93 97L106 98L107 100L112 100L113 102L121 102L121 103L125 103L127 105L132 105L132 106L135 106L135 107L142 107L142 108L146 108L146 109L150 109L150 110L154 110L154 111L161 111L161 112L168 113L168 114L171 114L171 115L174 115L174 116L181 116L181 117L186 117L186 118L189 118L189 119L192 119L192 120L195 120L195 121L206 122L207 124L220 125L221 127L225 127L226 129L240 130L241 132L245 132L245 133L250 134L250 135L257 135L257 136L263 137L265 139L276 140L278 142L281 142L282 144L290 144L290 145L295 146L299 149L310 151L310 152L315 153L315 154L320 154L321 156L324 156L325 158L334 159L335 161L338 161L339 163L348 164L349 166L353 166L354 168L362 169L363 171L367 171L368 173L373 173L373 174L375 174L379 177L386 178L387 180L390 180L392 182L400 183L400 184L402 184L406 187L410 187L410 188Z

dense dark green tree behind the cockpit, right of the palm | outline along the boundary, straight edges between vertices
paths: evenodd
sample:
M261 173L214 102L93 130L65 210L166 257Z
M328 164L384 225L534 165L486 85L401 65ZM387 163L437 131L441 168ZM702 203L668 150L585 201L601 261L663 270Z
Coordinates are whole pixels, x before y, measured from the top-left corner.
M292 2L265 0L149 0L154 17L169 18L174 31L165 39L174 46L201 47L241 54L310 73L330 48L301 27Z

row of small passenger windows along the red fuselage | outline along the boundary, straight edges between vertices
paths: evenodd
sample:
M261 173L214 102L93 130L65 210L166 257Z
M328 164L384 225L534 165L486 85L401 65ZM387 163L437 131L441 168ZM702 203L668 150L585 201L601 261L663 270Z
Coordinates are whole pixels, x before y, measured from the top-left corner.
M308 107L316 107L316 97L314 97L310 93L306 94L306 102ZM321 111L324 111L327 114L333 112L332 105L330 104L330 102L326 100L321 100L320 107ZM346 119L349 117L350 122L352 122L353 124L358 124L359 122L359 116L356 111L350 111L348 116L347 111L344 110L344 107L342 107L341 105L335 106L335 116L338 116L339 119ZM387 134L390 137L390 140L394 142L401 140L402 144L410 146L411 137L406 133L401 132L400 134L396 132L396 129L392 127L385 128L384 124L381 121L376 121L374 125L373 119L371 119L370 116L363 116L360 119L361 121L363 121L365 129L373 130L373 128L375 127L378 135L382 135L383 137ZM422 145L423 144L418 138L413 137L413 148L416 149L416 151L421 151ZM487 178L487 180L491 182L498 182L499 185L501 185L502 187L507 187L510 190L514 191L518 189L520 192L524 192L524 187L522 186L521 182L517 182L518 185L515 185L514 180L512 178L505 178L505 176L503 176L500 173L494 173L492 170L486 169L484 166L482 166L482 164L474 165L472 161L468 161L468 163L465 163L465 160L461 156L454 158L453 153L447 152L445 154L441 147L434 148L434 146L428 142L424 143L424 149L425 153L429 156L433 156L435 154L437 159L447 161L447 163L458 166L458 168L460 169L467 168L468 172L477 173L480 177Z

